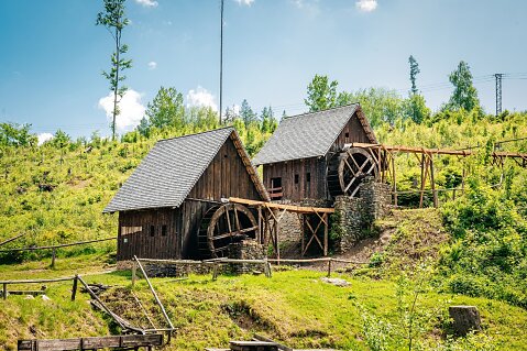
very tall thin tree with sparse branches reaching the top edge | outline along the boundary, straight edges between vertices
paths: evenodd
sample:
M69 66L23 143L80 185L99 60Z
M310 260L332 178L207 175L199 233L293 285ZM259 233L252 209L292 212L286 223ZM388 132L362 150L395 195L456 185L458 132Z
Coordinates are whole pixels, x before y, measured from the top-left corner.
M102 72L102 76L110 83L110 90L113 91L113 110L111 122L112 140L116 140L116 119L119 116L118 103L122 99L128 88L120 85L127 79L127 76L121 75L121 72L132 67L131 59L124 59L121 55L128 52L128 45L121 42L122 30L130 21L124 14L125 0L105 0L105 11L97 14L96 25L105 26L110 32L116 43L116 51L111 54L110 72Z

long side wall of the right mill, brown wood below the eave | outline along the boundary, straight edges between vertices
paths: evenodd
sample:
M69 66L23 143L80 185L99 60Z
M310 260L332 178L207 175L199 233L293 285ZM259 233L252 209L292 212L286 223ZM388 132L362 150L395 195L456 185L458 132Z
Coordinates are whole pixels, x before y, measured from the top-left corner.
M307 182L309 173L310 182ZM326 161L312 157L265 165L264 184L271 189L271 179L282 177L283 199L323 199L326 198ZM295 178L298 182L295 182Z

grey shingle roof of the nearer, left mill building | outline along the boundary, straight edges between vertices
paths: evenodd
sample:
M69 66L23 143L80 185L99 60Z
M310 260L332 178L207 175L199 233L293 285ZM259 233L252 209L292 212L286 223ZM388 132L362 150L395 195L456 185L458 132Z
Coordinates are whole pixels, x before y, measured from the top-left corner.
M229 135L239 140L233 128L223 128L158 141L103 212L179 207ZM239 153L242 158L246 158L244 163L248 172L254 172L246 154L240 150ZM263 189L262 197L265 198L266 193L260 178L257 175L252 178L260 183L255 184L256 188L261 193Z

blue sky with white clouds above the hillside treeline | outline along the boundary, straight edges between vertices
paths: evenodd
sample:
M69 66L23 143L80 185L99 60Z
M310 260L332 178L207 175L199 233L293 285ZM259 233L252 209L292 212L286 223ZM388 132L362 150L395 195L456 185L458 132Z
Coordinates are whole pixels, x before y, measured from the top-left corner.
M121 131L133 128L161 86L187 103L218 106L219 0L128 0L123 32L133 68ZM0 0L0 120L37 133L109 134L103 98L112 40L95 25L102 0ZM418 87L437 109L448 74L466 61L483 106L527 109L527 1L513 0L224 0L224 106L243 99L279 116L306 110L315 74L339 88L386 87L406 95L408 56ZM524 78L524 79L519 79ZM102 99L102 100L101 100ZM124 113L125 112L125 113Z

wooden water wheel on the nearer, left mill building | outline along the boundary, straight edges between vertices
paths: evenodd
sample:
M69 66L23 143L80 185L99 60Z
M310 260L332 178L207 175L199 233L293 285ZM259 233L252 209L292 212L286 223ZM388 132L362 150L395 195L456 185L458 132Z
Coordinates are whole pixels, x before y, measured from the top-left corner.
M259 226L243 205L226 204L211 207L201 219L198 245L201 256L223 257L229 244L256 238Z

